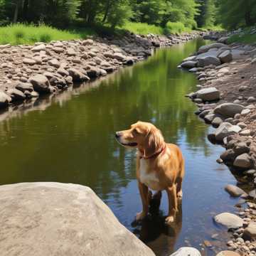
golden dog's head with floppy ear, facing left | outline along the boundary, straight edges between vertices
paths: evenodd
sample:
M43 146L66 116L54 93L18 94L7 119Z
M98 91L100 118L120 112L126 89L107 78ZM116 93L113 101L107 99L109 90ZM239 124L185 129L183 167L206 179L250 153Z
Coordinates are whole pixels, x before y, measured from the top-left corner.
M119 144L128 148L138 148L145 155L154 154L164 146L164 137L159 129L148 122L137 122L130 129L116 132Z

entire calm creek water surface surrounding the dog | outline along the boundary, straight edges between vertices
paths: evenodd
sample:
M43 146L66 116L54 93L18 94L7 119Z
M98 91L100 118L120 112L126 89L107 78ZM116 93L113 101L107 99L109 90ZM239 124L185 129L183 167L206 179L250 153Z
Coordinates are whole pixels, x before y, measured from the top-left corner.
M144 62L105 79L1 114L0 183L58 181L90 186L156 255L170 255L188 245L201 249L203 240L210 240L216 250L225 247L226 231L213 223L213 216L234 210L234 199L223 187L236 180L226 166L215 162L223 149L208 142L211 128L198 119L196 106L184 97L196 90L196 76L176 68L206 43L198 39L156 50ZM133 223L142 208L136 152L119 146L114 132L137 120L154 123L166 142L181 147L186 159L183 202L170 227L164 225L165 193L158 213L140 225ZM215 233L219 235L213 240Z

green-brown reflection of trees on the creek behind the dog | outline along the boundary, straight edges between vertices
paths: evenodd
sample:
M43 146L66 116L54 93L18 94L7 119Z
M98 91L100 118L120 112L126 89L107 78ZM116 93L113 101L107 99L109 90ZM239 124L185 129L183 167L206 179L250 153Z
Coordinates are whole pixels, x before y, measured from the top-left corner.
M194 89L196 78L176 68L197 44L157 51L146 62L102 80L100 86L94 82L64 92L50 106L46 100L43 112L1 122L0 183L81 183L103 198L110 192L118 197L119 188L134 178L135 166L134 152L114 141L114 131L138 119L154 122L167 141L185 141L208 154L206 126L193 114L193 103L184 98ZM83 90L86 93L76 95ZM68 100L71 94L75 95Z

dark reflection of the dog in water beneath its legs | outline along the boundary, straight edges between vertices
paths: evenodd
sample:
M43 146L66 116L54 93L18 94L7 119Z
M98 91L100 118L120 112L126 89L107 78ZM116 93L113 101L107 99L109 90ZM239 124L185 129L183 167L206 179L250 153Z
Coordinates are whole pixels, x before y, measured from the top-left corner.
M138 235L139 239L146 244L150 243L150 247L153 249L161 247L162 243L167 243L171 252L182 228L182 203L178 203L176 220L171 225L166 225L164 213L159 210L160 203L161 192L158 192L151 197L149 206L150 215L142 220L141 223L134 221L132 227L135 228L134 234Z

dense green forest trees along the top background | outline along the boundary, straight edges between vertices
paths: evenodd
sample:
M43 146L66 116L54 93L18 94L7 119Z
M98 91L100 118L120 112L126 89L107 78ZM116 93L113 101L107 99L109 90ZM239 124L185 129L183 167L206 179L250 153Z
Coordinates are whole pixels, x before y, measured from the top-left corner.
M255 0L0 0L0 25L45 23L68 26L122 27L146 23L181 31L233 29L256 22Z

